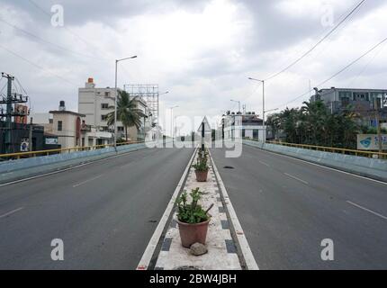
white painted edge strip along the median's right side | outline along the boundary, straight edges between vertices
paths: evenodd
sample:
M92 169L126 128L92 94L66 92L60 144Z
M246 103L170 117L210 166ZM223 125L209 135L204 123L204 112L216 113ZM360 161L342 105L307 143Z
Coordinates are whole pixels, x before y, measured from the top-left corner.
M230 218L230 221L232 223L232 226L234 226L235 233L237 234L237 239L238 239L238 242L240 245L242 255L245 258L247 269L248 270L259 270L256 258L254 257L250 246L248 245L245 232L243 231L242 225L240 225L240 222L238 220L237 212L234 210L234 207L232 206L232 203L230 201L229 193L227 193L226 187L220 178L218 168L215 165L215 161L212 158L211 152L209 151L209 153L210 153L211 163L212 163L212 167L213 167L213 172L215 173L216 177L218 178L218 183L220 185L220 191L223 194L223 198L229 200L226 202L227 210L229 211L229 218Z

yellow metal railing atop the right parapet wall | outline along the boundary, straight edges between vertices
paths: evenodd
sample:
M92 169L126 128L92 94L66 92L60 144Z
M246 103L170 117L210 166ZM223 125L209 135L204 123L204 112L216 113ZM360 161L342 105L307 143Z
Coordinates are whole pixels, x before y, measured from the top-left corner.
M334 148L334 147L325 147L325 146L316 146L316 145L307 145L307 144L294 144L294 143L280 142L280 141L266 141L266 143L294 147L294 148L306 148L310 150L317 150L317 151L323 151L323 152L355 155L360 157L377 156L382 159L387 159L387 153L384 153L384 152L380 153L375 151L364 151L364 150L347 149L347 148Z

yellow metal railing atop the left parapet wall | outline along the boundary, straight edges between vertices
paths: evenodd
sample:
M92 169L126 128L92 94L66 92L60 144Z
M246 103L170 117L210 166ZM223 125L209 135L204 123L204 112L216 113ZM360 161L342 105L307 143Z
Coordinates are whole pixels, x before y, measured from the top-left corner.
M139 143L145 143L145 142L144 141L122 142L122 143L117 143L117 146L139 144ZM61 154L61 153L90 151L90 150L103 149L103 148L109 148L109 147L114 147L114 144L75 147L75 148L60 148L60 149L40 150L40 151L31 151L31 152L19 152L19 153L10 153L10 154L0 154L0 159L1 158L20 159L20 158L26 158L26 157L40 157L40 156L49 156L49 155Z

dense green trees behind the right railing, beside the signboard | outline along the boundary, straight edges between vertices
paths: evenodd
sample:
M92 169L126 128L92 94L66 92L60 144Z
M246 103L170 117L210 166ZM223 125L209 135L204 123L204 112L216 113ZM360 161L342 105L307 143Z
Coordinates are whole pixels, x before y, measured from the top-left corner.
M336 148L356 148L360 131L356 113L330 113L324 103L305 102L301 109L286 108L268 117L267 124L275 135L284 132L285 141Z

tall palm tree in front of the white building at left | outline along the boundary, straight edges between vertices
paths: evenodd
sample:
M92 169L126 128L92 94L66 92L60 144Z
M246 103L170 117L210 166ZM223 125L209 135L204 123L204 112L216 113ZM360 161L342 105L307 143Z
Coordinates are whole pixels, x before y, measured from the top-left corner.
M114 109L114 106L110 107ZM128 140L128 128L136 127L137 130L141 127L141 120L147 117L141 109L139 109L138 97L130 98L130 94L126 91L119 90L117 97L117 120L122 122L125 127L125 139ZM107 124L114 125L114 112L106 115Z

